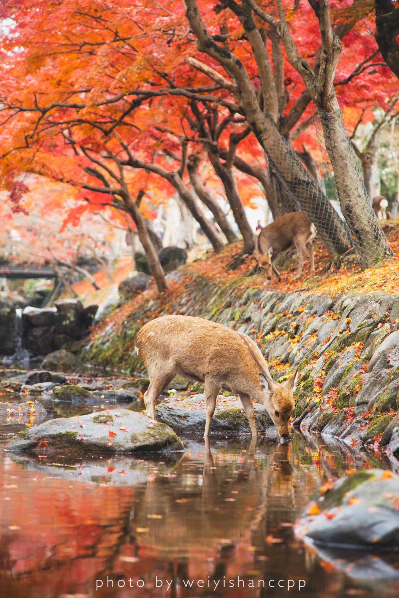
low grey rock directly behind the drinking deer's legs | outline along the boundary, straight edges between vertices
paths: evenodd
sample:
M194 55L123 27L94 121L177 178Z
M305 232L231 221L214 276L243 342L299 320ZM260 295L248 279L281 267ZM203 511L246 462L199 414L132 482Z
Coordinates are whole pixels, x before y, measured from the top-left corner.
M259 432L274 426L266 407L254 403L255 424ZM205 395L193 395L191 398L165 399L156 407L156 417L166 423L175 432L205 431L206 408ZM248 417L242 407L242 402L236 396L218 396L214 417L211 422L211 432L234 432L234 434L251 434Z

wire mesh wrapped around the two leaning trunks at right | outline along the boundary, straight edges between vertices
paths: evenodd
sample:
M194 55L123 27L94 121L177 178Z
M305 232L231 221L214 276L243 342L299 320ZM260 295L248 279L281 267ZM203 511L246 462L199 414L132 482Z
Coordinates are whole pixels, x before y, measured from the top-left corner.
M371 208L342 111L315 118L318 141L334 193L334 207L318 181L285 139L265 151L272 193L280 215L300 210L316 227L331 261L354 252L364 270L392 249Z

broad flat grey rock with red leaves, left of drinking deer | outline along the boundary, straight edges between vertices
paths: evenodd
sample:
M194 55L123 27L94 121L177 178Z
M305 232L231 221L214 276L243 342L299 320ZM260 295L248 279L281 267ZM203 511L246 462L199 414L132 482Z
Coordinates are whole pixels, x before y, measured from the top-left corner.
M6 450L141 453L184 451L184 446L164 423L154 422L137 411L117 409L78 418L61 417L22 430L11 439Z

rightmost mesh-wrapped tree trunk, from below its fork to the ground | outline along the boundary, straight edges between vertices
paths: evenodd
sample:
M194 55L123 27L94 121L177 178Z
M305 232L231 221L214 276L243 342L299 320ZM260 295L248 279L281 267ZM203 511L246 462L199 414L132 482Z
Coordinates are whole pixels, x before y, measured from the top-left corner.
M355 152L343 127L342 112L337 110L322 114L319 110L319 114L341 210L354 233L360 263L364 269L372 266L375 258L386 255L385 236L380 231L375 215L374 218L371 217L372 210L366 201Z

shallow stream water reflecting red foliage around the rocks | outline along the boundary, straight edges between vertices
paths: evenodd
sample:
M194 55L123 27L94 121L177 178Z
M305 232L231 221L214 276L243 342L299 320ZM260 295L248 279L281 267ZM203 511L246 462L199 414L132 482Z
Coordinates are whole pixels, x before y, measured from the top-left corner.
M39 400L47 419L122 406ZM385 456L299 433L288 447L183 437L184 454L140 458L4 452L24 427L0 426L1 598L398 596L397 555L316 553L293 535L322 483L391 469Z

